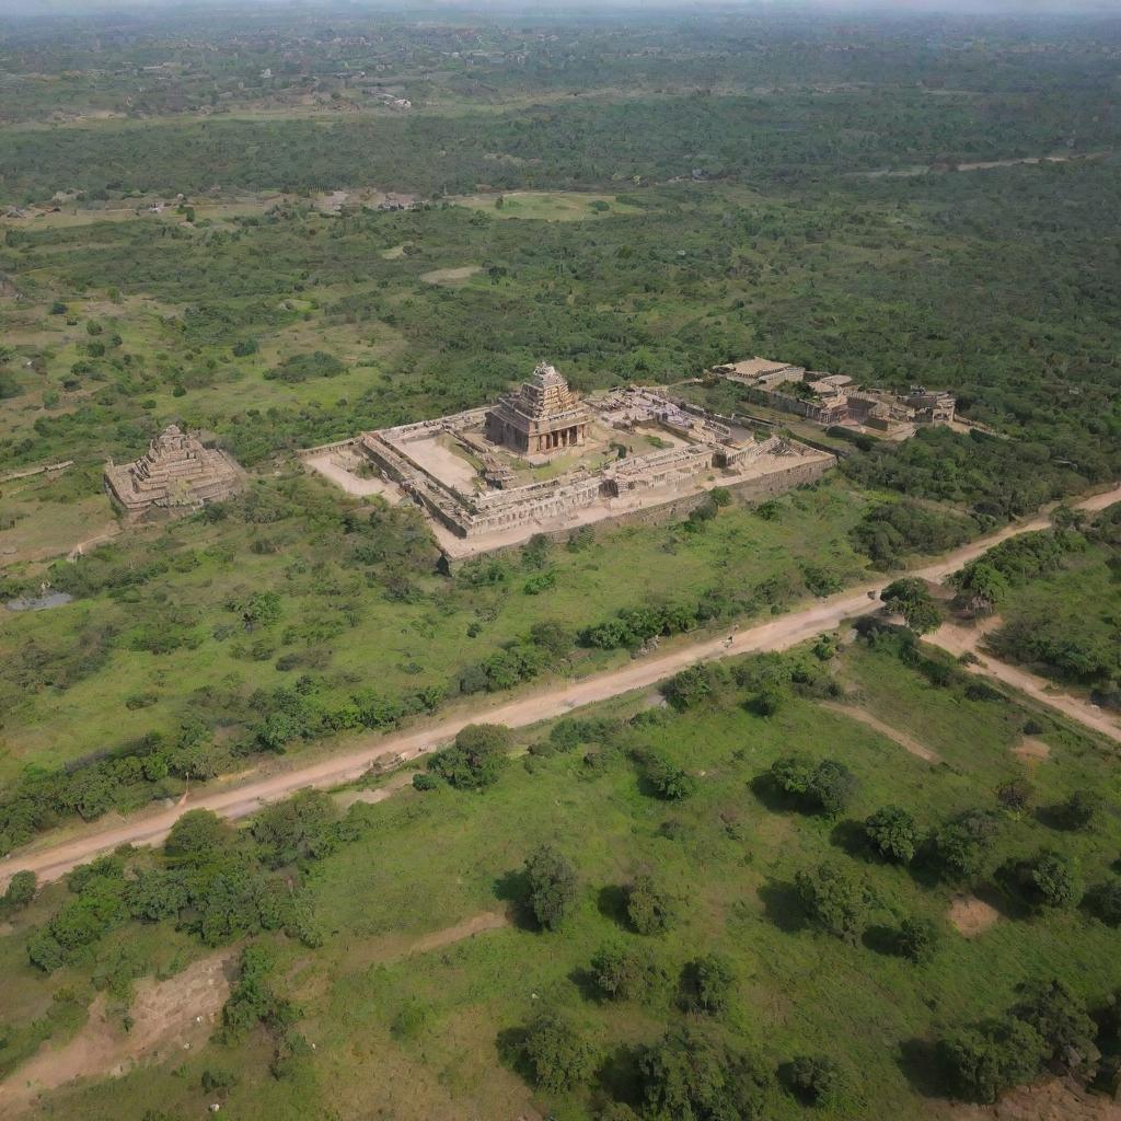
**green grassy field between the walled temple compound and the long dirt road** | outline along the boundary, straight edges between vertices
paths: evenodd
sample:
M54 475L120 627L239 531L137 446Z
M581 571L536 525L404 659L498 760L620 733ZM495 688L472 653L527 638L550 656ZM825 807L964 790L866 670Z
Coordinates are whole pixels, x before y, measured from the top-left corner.
M383 574L351 555L340 520L355 503L317 476L257 484L258 493L281 503L289 501L281 498L286 491L295 500L280 520L259 524L234 513L212 525L191 519L156 526L105 546L102 559L78 563L101 571L166 562L151 584L49 611L0 614L7 664L0 671L7 686L0 777L12 778L31 762L58 766L152 731L174 735L203 696L211 704L225 698L219 704L228 717L211 712L207 720L217 719L219 726L229 720L230 734L243 725L254 689L290 686L306 670L278 669L286 654L314 659L330 700L371 684L391 695L428 686L454 695L466 666L538 622L576 629L623 608L695 601L714 586L739 597L743 611L758 612L770 610L768 601L748 606L760 587L769 587L778 604L807 594L799 565L847 582L867 564L847 540L867 500L836 481L787 495L772 520L735 507L701 532L679 525L597 530L578 552L550 549L543 567L515 556L497 583L481 586L436 575L426 553L427 560L408 572L402 599L387 593ZM629 576L637 572L641 584ZM541 573L547 590L527 592ZM259 591L279 593L280 618L245 634L228 604ZM142 632L172 623L183 634L178 648L133 648ZM100 660L61 679L59 666L91 643L104 646ZM587 673L627 658L626 650L577 650L563 671ZM133 707L137 697L143 701Z

